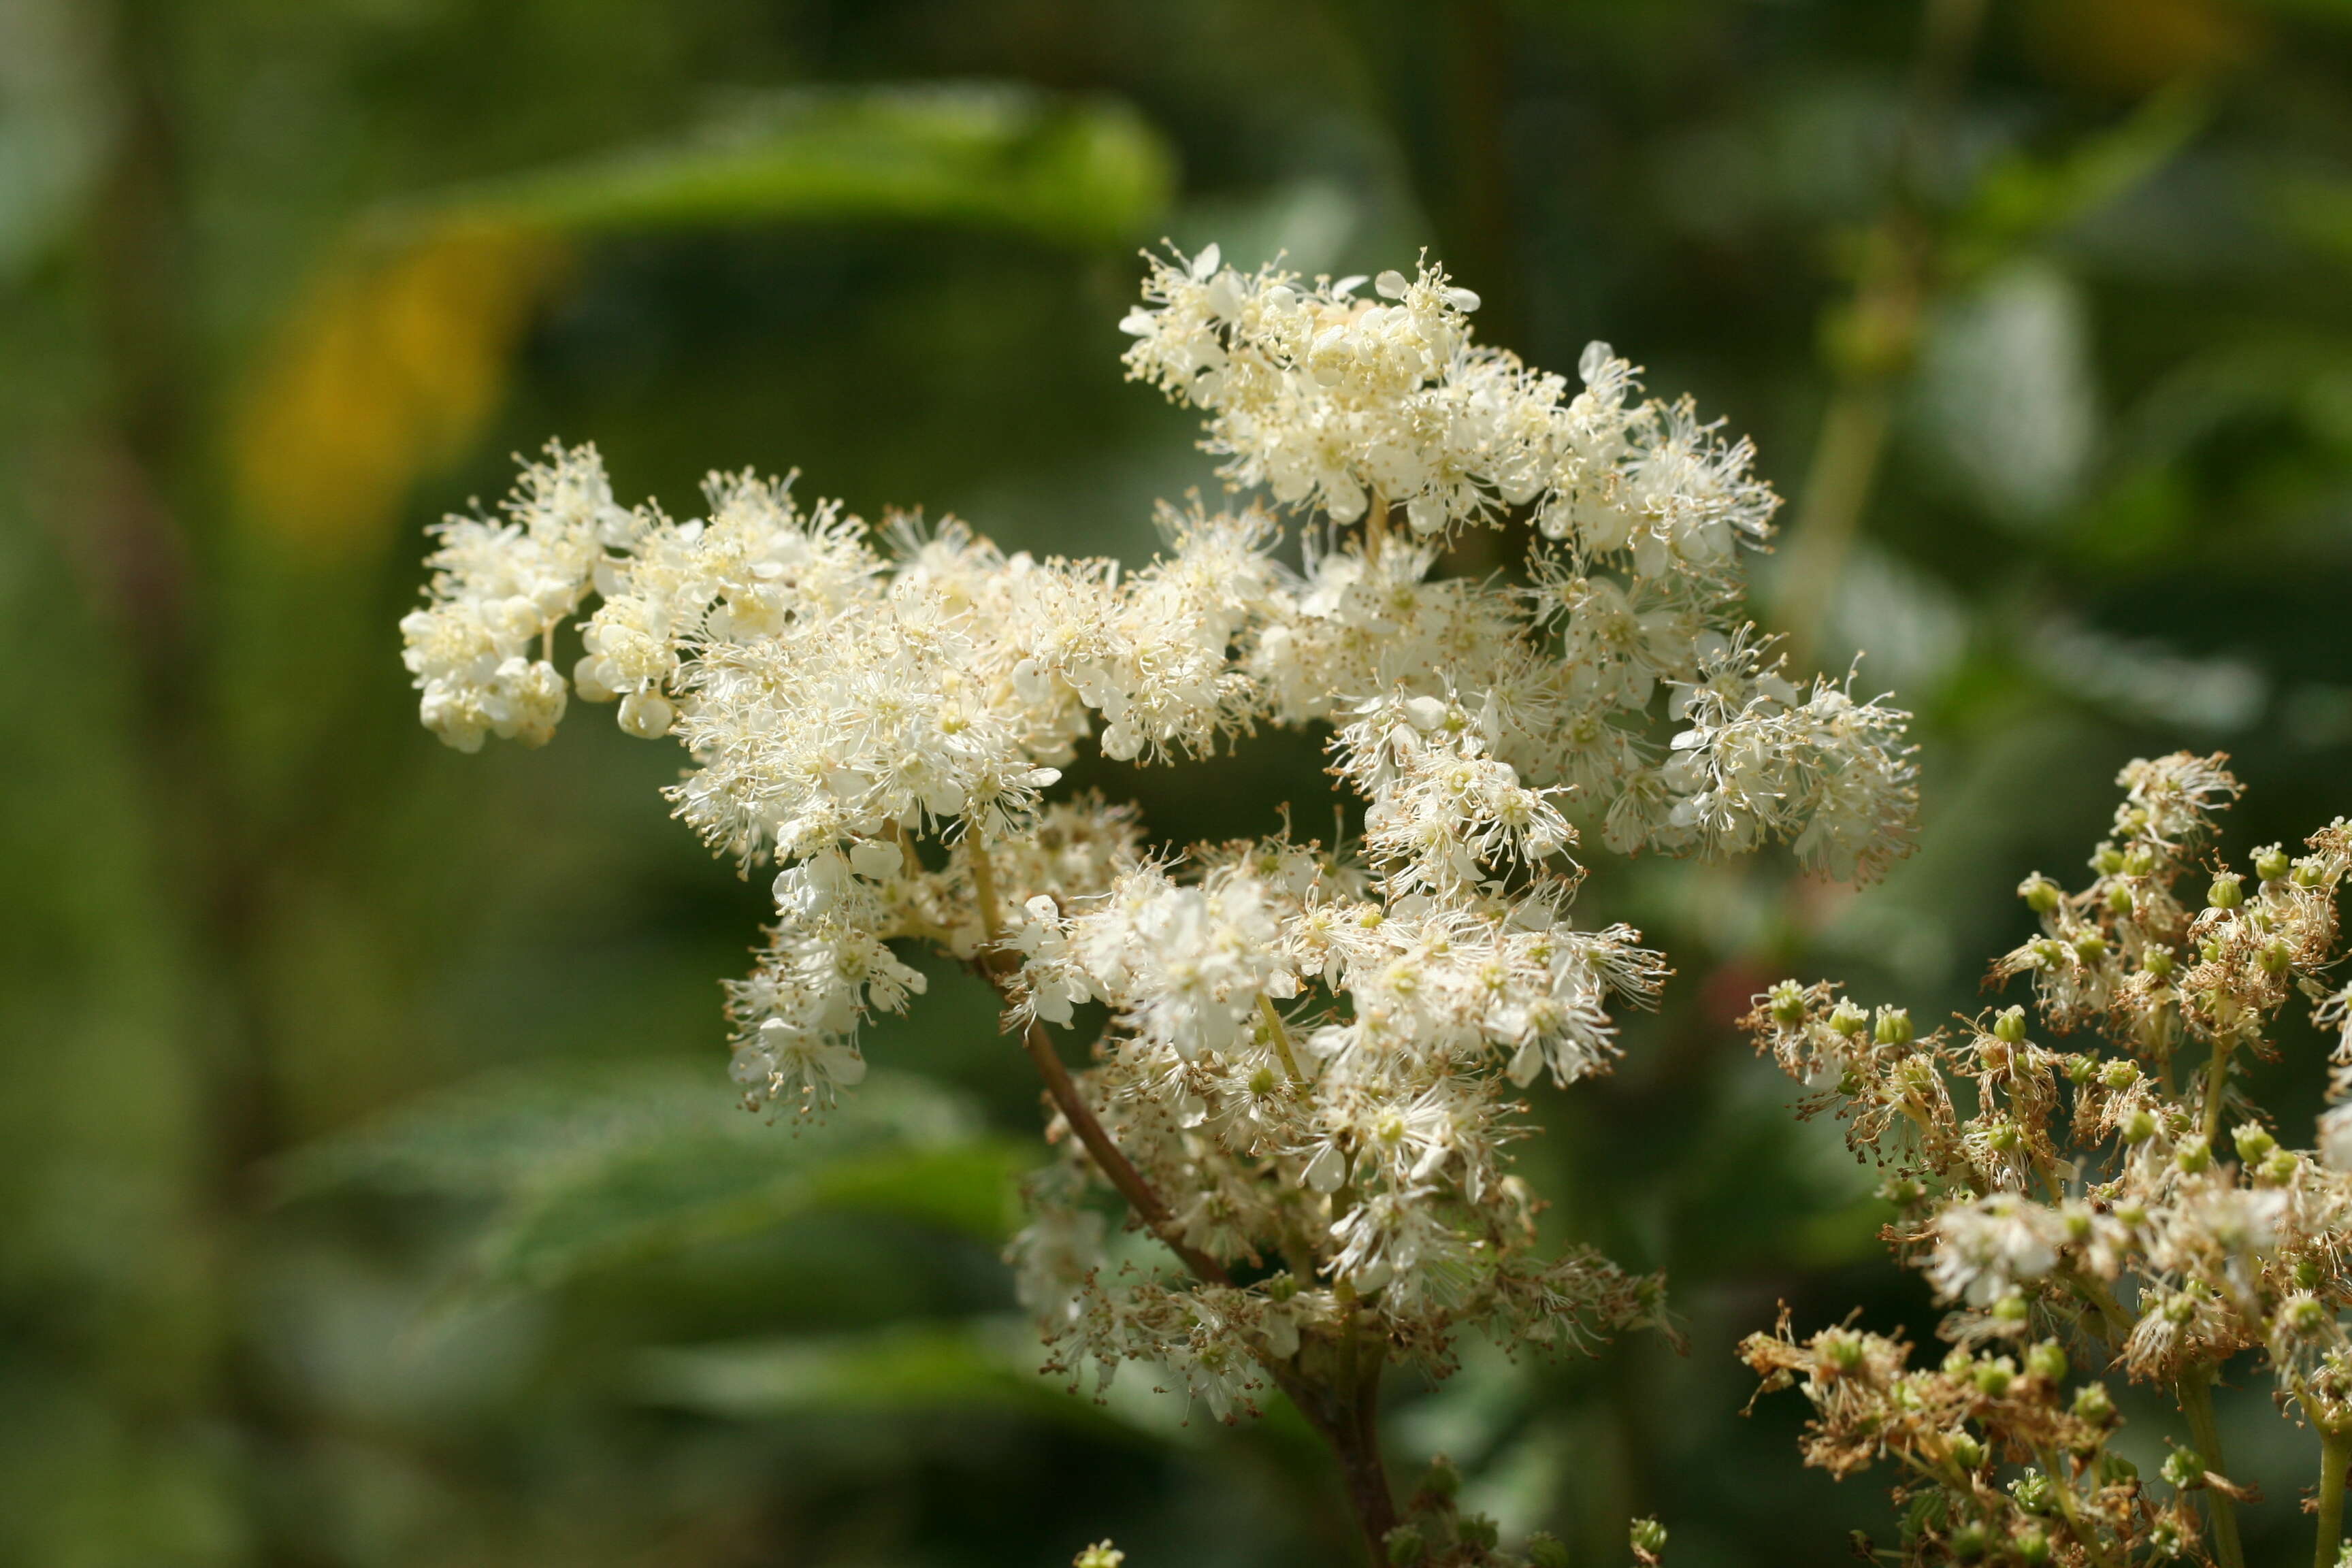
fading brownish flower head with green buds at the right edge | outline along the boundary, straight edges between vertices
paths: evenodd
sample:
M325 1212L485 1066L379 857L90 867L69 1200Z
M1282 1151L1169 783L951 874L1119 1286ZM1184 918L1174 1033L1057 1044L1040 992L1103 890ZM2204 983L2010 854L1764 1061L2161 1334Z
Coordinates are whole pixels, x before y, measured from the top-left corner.
M1886 1234L1952 1305L1952 1352L1915 1371L1896 1340L1795 1340L1783 1319L1745 1356L1766 1387L1804 1385L1809 1462L1900 1467L1905 1563L2122 1568L2209 1549L2237 1568L2249 1488L2223 1465L2211 1389L2251 1352L2319 1434L2314 1561L2333 1568L2352 1465L2352 987L2326 971L2352 825L2300 856L2256 851L2253 877L2209 877L2213 811L2239 792L2223 757L2133 762L2119 783L2093 882L2030 877L2042 936L1992 966L2032 980L2072 1048L2037 1044L2018 1006L1915 1037L1900 1009L1867 1013L1828 985L1757 999L1748 1025L1811 1088L1806 1110L1835 1110L1891 1166ZM2237 1081L2246 1058L2277 1058L2296 997L2338 1034L2317 1150L2281 1147ZM2161 1490L2110 1453L2105 1385L2067 1385L2084 1356L2180 1401L2190 1443Z

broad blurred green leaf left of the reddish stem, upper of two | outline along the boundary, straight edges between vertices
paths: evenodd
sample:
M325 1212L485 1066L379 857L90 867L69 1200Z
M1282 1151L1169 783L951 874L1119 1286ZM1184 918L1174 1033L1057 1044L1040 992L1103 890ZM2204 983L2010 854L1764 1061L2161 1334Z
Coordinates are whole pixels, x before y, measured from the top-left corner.
M699 1067L532 1070L459 1086L294 1154L289 1197L346 1187L489 1206L459 1295L757 1234L821 1211L997 1241L1030 1150L934 1084L875 1074L821 1121L736 1107Z

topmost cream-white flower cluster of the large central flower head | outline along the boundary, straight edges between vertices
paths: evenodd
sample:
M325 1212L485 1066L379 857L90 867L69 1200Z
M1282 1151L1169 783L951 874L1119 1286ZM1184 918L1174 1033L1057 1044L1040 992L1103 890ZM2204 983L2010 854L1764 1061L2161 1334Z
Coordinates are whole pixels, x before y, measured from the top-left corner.
M1152 261L1143 306L1120 327L1127 369L1209 414L1223 475L1284 505L1355 522L1381 501L1414 534L1503 522L1531 508L1545 538L1630 550L1644 578L1670 559L1731 564L1759 543L1778 498L1689 400L1628 404L1632 367L1592 343L1573 395L1562 376L1470 341L1477 294L1439 268L1312 287L1294 273L1223 266L1211 244Z

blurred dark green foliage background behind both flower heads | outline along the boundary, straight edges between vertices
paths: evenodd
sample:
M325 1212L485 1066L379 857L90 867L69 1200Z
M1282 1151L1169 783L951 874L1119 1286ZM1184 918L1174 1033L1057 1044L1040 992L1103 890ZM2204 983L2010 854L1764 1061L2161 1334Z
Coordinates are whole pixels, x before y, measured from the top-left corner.
M1209 482L1120 386L1162 233L1430 244L1531 360L1698 390L1797 503L1764 621L1919 712L1884 886L1588 893L1682 973L1524 1168L1689 1354L1477 1352L1390 1418L1576 1561L1637 1512L1677 1568L1839 1556L1879 1495L1740 1420L1731 1345L1936 1312L1729 1020L1780 971L1978 1006L2136 752L2232 750L2232 849L2352 806L2352 7L1976 9L0 0L0 1561L1345 1561L1289 1413L1030 1373L976 983L828 1124L734 1112L760 889L604 724L435 748L393 635L421 524L548 435L1148 552ZM1082 771L1171 837L1329 811L1296 738ZM2307 1460L2249 1415L2270 1561Z

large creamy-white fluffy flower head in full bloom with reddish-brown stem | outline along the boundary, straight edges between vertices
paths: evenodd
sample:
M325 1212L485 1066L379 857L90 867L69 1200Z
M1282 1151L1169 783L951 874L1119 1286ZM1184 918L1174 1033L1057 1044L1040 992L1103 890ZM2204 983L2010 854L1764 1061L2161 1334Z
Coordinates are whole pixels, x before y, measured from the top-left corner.
M875 536L748 473L673 522L550 447L506 520L442 524L402 630L461 750L543 743L567 689L684 745L675 813L774 877L729 987L753 1105L863 1077L858 1023L924 987L908 945L983 973L1054 1103L1011 1248L1051 1363L1143 1361L1221 1418L1279 1387L1378 1544L1385 1363L1444 1371L1463 1326L1581 1347L1663 1321L1656 1279L1536 1255L1501 1152L1512 1088L1606 1070L1611 1009L1665 978L1637 931L1571 919L1578 823L1872 875L1912 769L1900 712L1792 682L1738 621L1778 505L1745 442L1642 400L1602 343L1573 388L1475 346L1437 268L1362 287L1216 247L1150 263L1129 374L1263 501L1167 508L1141 571L955 522ZM1275 510L1303 517L1296 562ZM1524 571L1437 576L1472 524L1524 527ZM555 632L590 590L567 682ZM1049 795L1089 741L1174 762L1258 726L1329 733L1359 842L1171 853L1127 806ZM1070 1072L1054 1030L1094 1004L1110 1027ZM1112 1262L1112 1197L1164 1255ZM1439 1535L1432 1561L1491 1544Z

